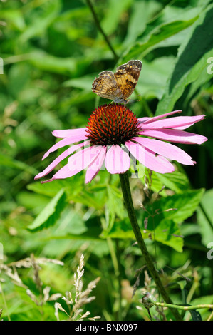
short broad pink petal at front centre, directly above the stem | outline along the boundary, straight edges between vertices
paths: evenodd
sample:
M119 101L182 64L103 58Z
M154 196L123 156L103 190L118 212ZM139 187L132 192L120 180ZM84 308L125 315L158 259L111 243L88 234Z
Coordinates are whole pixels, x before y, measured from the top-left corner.
M105 155L105 167L111 174L124 173L130 168L130 158L119 145L112 145Z

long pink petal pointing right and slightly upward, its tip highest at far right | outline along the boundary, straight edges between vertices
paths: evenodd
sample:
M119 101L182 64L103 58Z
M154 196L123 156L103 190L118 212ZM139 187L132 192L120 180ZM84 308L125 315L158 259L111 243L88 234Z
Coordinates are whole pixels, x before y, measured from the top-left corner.
M190 125L194 125L194 123L199 122L205 117L205 115L199 116L176 116L175 118L165 118L163 120L156 120L152 123L142 123L140 126L142 129L169 129L169 128L177 128L177 129L186 129L189 128Z

